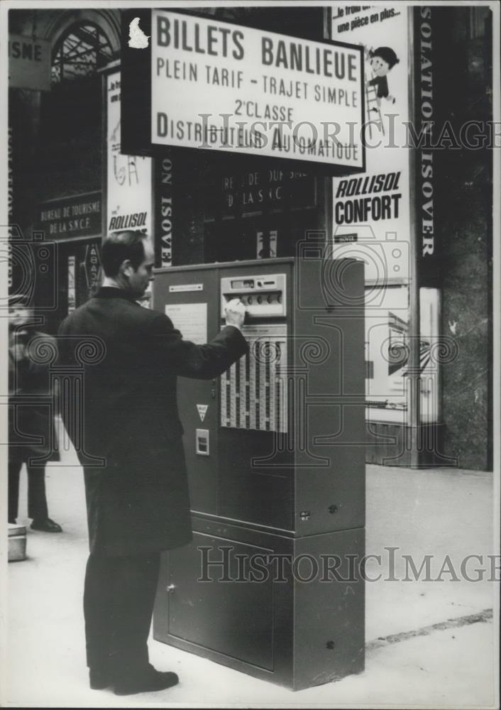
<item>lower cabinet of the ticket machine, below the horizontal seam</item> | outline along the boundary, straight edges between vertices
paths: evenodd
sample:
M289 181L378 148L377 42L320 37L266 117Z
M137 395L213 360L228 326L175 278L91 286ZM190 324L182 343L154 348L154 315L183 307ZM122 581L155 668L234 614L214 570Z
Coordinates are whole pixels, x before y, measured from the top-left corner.
M364 667L364 528L287 537L193 518L165 553L154 638L299 690Z

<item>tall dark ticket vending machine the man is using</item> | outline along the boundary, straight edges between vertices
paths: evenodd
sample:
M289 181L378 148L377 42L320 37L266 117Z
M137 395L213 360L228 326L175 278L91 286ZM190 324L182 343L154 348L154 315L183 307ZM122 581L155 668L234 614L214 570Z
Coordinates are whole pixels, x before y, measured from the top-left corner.
M250 352L178 380L193 540L165 553L157 640L302 689L363 670L363 263L159 269L153 307L207 342L240 297Z

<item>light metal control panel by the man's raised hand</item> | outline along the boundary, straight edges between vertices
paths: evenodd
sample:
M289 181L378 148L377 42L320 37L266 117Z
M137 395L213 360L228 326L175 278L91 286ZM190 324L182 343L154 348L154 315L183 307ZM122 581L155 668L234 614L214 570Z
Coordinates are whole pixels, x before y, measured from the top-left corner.
M221 313L232 298L241 299L250 317L283 317L287 312L285 273L221 278Z

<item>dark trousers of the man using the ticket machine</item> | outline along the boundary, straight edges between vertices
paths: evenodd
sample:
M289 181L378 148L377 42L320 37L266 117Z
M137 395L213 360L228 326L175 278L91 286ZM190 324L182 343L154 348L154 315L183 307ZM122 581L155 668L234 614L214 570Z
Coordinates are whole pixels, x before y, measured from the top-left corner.
M84 586L87 665L111 677L141 674L148 665L148 634L160 553L89 555Z

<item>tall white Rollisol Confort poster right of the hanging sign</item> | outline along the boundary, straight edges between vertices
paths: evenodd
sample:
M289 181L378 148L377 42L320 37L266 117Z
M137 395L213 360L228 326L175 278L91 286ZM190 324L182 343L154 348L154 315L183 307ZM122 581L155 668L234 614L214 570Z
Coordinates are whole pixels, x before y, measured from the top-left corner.
M331 36L363 48L365 158L361 175L333 179L333 257L353 253L338 238L358 233L365 278L409 278L409 53L407 6L332 9Z

